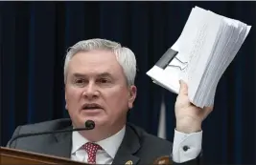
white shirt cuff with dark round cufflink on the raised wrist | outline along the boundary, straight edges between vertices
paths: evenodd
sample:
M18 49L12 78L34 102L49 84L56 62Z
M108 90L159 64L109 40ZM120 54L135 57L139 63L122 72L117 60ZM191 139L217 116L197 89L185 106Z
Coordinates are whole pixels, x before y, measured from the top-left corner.
M183 134L175 130L173 161L183 163L195 159L201 152L202 131Z

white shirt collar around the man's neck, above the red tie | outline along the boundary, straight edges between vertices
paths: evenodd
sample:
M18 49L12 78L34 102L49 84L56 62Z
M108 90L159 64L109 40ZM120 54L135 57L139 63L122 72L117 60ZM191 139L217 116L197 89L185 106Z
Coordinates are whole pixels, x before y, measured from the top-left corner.
M99 144L105 152L110 155L112 158L115 157L121 142L125 136L126 126L123 127L117 134L114 134L104 140L96 142ZM72 151L71 153L76 153L82 145L84 145L88 140L84 138L79 132L72 133Z

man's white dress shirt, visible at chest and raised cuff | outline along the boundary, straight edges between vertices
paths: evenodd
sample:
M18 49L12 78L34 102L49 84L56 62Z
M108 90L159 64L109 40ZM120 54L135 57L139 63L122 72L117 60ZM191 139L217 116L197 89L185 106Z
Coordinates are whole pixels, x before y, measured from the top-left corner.
M102 141L97 142L104 150L97 152L96 164L111 164L117 153L119 146L125 136L126 127L117 134L114 134ZM196 158L201 151L202 132L194 134L183 134L175 130L173 144L173 160L182 163ZM71 159L87 163L88 155L81 146L88 140L81 136L79 132L72 133Z

